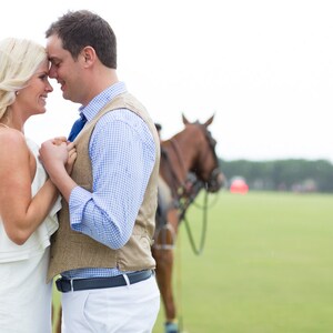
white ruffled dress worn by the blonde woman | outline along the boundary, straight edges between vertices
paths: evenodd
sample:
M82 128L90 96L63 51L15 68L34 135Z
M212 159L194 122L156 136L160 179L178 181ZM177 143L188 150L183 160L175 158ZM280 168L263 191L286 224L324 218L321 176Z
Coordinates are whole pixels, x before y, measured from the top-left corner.
M33 154L38 145L27 139ZM47 174L37 160L31 184L32 195L46 182ZM60 198L49 216L23 245L14 244L6 234L0 218L0 332L51 333L52 283L47 284L50 236L58 229Z

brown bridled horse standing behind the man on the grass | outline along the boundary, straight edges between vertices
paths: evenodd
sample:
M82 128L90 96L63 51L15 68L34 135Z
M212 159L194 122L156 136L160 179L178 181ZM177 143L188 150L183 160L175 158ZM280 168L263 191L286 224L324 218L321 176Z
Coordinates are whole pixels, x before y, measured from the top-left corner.
M216 141L204 123L190 123L182 114L184 129L161 141L159 200L152 253L155 276L165 315L165 333L178 333L176 309L172 291L173 249L180 222L199 192L216 193L224 184L215 153Z

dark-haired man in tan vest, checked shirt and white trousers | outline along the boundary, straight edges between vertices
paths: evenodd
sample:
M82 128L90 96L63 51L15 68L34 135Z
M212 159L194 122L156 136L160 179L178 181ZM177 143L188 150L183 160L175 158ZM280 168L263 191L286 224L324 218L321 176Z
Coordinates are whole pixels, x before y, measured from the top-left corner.
M151 254L160 143L143 105L117 77L117 41L90 11L68 12L46 32L50 77L64 99L82 104L67 143L47 141L41 160L63 196L49 279L62 294L62 331L151 332L160 293ZM73 131L77 129L73 128Z

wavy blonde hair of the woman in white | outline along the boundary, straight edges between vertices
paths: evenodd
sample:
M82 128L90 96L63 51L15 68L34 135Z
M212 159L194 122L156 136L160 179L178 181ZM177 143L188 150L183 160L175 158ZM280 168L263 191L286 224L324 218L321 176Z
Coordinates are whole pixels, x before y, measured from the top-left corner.
M0 119L14 102L16 92L24 88L47 58L46 49L32 40L0 41Z

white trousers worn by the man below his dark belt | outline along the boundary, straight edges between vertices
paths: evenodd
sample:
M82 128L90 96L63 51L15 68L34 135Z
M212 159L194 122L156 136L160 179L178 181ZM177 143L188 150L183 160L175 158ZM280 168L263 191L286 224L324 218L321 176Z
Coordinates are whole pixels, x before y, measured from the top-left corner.
M62 294L63 333L150 333L160 310L155 276L125 286Z

